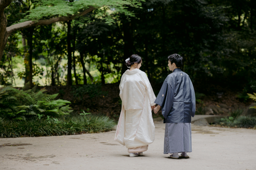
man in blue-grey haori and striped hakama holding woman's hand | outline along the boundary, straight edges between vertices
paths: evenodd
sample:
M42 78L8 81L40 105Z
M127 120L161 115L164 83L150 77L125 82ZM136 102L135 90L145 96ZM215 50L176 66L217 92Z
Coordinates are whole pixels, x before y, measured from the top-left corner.
M183 57L168 56L168 66L173 72L164 80L157 95L155 114L162 107L165 123L164 154L173 153L171 158L188 158L191 149L191 116L196 110L195 91L189 76L181 71ZM180 153L180 154L179 154Z

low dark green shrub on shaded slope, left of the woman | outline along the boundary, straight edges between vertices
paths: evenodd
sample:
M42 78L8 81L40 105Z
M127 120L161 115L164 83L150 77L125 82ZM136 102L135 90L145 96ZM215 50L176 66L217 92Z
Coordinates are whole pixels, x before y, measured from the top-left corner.
M106 96L108 95L108 92L101 90L101 85L83 85L82 87L76 87L76 89L73 90L74 97L77 97L79 100L83 99L83 96L85 94L89 94L90 98L98 97L98 96Z

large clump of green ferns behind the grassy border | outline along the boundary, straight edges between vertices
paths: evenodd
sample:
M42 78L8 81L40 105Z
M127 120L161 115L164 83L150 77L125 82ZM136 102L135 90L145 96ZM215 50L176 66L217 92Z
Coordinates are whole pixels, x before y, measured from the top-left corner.
M11 86L0 88L0 117L9 119L26 119L36 115L38 119L44 115L68 115L70 101L54 100L58 94L48 95L46 90L36 92L36 86L30 89L26 84L22 90Z

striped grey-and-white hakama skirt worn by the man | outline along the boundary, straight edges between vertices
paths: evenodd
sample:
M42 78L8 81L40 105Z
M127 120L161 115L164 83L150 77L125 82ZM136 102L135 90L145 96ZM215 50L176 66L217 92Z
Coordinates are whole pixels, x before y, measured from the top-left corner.
M192 152L191 123L165 123L164 154Z

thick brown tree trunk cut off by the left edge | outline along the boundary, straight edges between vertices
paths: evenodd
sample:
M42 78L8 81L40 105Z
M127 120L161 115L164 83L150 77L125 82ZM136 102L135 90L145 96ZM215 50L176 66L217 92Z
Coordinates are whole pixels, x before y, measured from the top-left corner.
M4 15L4 10L0 11L0 61L2 59L2 56L4 54L4 48L7 43L8 39L8 32L6 31L6 26L7 26L7 19Z

